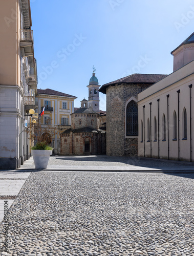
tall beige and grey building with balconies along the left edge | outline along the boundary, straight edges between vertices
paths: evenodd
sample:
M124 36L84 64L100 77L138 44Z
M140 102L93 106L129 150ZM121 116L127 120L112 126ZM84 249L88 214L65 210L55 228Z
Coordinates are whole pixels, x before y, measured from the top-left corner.
M31 116L37 89L29 0L0 8L0 169L18 168L30 155Z

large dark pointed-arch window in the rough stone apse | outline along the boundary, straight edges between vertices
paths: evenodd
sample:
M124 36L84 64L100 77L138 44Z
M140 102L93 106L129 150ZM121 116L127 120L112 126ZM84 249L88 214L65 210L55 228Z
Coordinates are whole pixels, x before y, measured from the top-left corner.
M138 136L138 105L134 100L126 106L126 136Z

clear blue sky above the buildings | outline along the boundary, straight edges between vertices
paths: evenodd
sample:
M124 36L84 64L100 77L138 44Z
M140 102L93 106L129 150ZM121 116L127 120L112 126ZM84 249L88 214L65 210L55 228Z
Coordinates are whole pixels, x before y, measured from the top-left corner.
M38 89L88 99L99 84L133 73L170 74L170 54L194 30L191 0L30 0ZM100 109L106 97L100 93Z

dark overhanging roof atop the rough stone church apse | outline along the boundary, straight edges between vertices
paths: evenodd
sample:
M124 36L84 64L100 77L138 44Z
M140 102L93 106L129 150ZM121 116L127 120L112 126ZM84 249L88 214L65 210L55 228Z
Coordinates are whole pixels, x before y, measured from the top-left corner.
M100 87L99 92L106 94L106 88L109 86L115 86L116 84L121 83L156 83L166 77L167 75L161 75L161 74L133 74L130 76L125 76L123 78L120 78L118 80L105 83L103 86Z

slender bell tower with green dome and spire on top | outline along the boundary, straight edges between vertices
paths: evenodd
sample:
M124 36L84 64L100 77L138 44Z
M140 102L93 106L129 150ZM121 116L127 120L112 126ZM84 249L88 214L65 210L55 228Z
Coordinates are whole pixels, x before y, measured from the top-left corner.
M99 99L99 91L100 88L98 84L98 79L95 74L95 68L93 67L94 72L92 77L90 78L88 90L89 90L89 97L88 97L88 108L92 109L95 112L100 112L100 99Z

